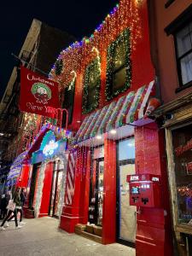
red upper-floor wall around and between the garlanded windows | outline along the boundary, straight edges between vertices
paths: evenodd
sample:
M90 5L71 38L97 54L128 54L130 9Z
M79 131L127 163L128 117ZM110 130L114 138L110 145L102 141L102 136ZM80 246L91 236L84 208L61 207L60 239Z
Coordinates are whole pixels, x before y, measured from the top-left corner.
M135 0L122 0L121 1L124 4L125 9L129 7L131 2L135 3ZM133 5L133 4L132 4ZM129 9L130 10L130 9ZM117 16L118 14L116 14ZM69 129L73 131L77 131L79 129L79 124L77 121L84 119L84 115L82 115L82 96L83 96L83 90L84 90L84 73L87 65L89 65L90 61L94 59L92 48L96 47L96 49L99 50L99 54L101 56L101 91L100 91L100 99L99 99L99 108L102 108L104 105L107 105L109 102L106 100L105 96L105 88L106 88L106 68L107 68L107 51L108 46L113 43L113 40L118 38L119 34L125 30L126 27L131 26L131 21L129 23L130 17L127 16L127 12L120 8L119 9L119 15L120 20L118 22L120 23L122 20L125 20L122 22L122 24L119 24L118 22L112 22L109 26L110 20L112 18L108 18L106 21L106 25L104 26L104 29L102 32L97 32L96 37L91 41L92 43L86 44L85 46L82 46L82 49L70 49L67 51L67 54L64 55L61 52L63 61L65 63L65 67L67 67L63 73L57 77L53 75L53 78L62 80L63 83L72 76L70 73L72 71L75 71L77 73L76 78L76 84L75 84L75 96L74 96L74 106L73 106L73 122L71 125L69 125ZM132 19L136 19L136 14L131 14ZM115 16L115 15L114 15ZM131 47L131 70L132 70L132 78L131 78L131 87L126 90L124 93L119 94L116 98L113 100L117 100L120 96L127 94L131 90L137 90L138 88L142 87L144 84L149 84L150 81L154 80L154 67L151 62L151 56L150 56L150 44L149 44L149 36L148 36L148 7L147 7L147 0L143 0L139 4L138 9L138 29L140 29L140 35L141 38L135 38L136 31L132 31L132 37L135 38L134 40L137 42L135 45L135 49ZM137 21L135 21L137 22ZM139 28L140 27L140 28ZM98 43L98 39L100 36L100 33L103 35L103 42L105 41L105 38L107 40L108 38L108 30L113 31L113 38L109 40L108 44L105 45L105 48L103 49L100 43ZM84 45L84 44L83 44ZM62 55L63 54L63 55ZM79 59L79 66L75 62L76 59ZM74 61L73 61L74 60ZM65 73L66 70L68 70L69 73ZM70 81L70 79L69 79ZM68 81L68 82L69 82ZM68 83L66 82L66 83Z

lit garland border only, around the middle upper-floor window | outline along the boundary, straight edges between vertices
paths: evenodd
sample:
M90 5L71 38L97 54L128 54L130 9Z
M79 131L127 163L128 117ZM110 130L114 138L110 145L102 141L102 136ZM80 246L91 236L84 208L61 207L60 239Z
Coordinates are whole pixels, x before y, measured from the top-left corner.
M90 61L90 63L85 68L84 73L84 91L83 91L83 102L82 102L82 113L90 113L99 106L99 98L100 98L100 88L101 88L101 68L99 67L101 65L101 58L100 56L97 56L95 59ZM96 85L94 88L96 88L96 101L93 102L90 106L88 105L88 97L89 97L89 80L90 80L90 70L92 68L96 68L98 72L98 79L96 79Z

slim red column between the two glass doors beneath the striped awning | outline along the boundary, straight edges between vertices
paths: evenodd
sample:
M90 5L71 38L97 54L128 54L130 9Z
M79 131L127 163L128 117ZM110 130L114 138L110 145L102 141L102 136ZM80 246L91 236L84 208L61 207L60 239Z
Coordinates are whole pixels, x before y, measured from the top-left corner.
M102 243L116 241L116 143L104 139Z

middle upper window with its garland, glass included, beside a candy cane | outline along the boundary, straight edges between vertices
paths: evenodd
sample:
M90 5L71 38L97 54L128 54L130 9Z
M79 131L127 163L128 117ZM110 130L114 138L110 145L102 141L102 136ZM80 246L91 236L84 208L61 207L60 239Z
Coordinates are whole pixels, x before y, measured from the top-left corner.
M99 93L101 85L101 61L97 56L91 61L85 69L84 74L84 95L83 95L83 113L90 113L98 108Z

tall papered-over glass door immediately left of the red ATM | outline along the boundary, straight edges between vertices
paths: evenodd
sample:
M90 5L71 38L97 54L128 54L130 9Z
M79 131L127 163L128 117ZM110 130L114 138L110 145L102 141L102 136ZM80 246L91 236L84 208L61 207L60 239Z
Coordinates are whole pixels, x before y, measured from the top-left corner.
M130 189L126 182L127 175L135 174L134 138L119 142L117 152L117 241L135 247L137 207L130 206Z

